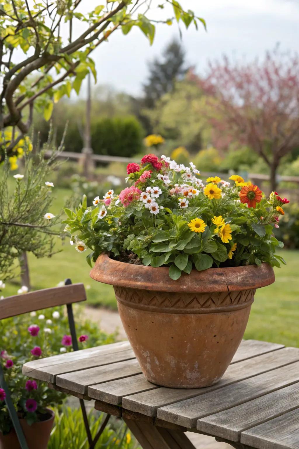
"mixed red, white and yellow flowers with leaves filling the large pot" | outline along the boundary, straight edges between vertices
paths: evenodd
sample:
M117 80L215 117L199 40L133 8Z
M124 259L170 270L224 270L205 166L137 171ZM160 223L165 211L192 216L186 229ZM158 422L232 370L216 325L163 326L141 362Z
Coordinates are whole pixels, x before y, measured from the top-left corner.
M164 155L147 154L127 172L132 185L119 195L110 190L95 207L83 196L75 211L65 209L65 231L79 252L91 249L90 265L107 251L120 261L167 266L176 280L194 268L285 263L275 254L283 244L273 228L288 200L277 192L266 198L238 175L204 182L192 162Z

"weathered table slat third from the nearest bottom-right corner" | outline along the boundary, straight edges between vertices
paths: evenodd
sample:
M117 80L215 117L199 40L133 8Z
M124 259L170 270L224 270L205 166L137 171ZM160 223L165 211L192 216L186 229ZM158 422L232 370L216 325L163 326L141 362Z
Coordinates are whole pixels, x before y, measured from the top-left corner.
M228 385L221 390L160 408L157 416L165 421L192 428L196 426L199 418L230 409L298 381L299 362L295 362Z

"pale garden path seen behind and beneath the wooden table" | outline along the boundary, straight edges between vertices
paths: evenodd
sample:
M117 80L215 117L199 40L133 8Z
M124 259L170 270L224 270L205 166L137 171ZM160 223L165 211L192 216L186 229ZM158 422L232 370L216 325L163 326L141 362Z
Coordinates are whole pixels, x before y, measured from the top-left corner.
M84 316L92 321L98 322L101 330L108 334L118 332L118 340L126 340L126 333L121 324L121 319L117 312L108 309L93 308L86 306ZM206 435L198 435L186 432L188 438L195 445L196 449L232 449L232 446L225 443L217 443L215 438Z

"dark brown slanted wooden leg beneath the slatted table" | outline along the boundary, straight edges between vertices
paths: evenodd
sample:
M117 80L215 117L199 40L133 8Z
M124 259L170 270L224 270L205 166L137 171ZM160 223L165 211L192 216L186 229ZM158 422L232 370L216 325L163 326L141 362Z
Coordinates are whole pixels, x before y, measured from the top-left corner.
M195 449L195 446L178 430L165 429L123 418L143 449Z

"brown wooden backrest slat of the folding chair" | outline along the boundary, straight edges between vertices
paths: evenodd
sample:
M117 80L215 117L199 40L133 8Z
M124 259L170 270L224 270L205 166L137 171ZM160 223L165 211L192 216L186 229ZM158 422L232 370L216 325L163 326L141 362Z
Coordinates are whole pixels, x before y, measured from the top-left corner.
M86 301L85 288L82 283L8 296L0 300L0 320L43 308L73 304L80 301Z

